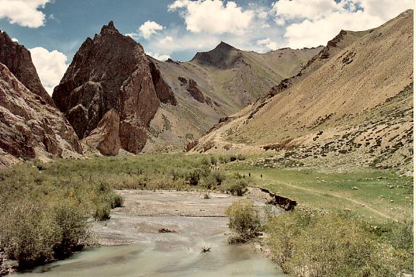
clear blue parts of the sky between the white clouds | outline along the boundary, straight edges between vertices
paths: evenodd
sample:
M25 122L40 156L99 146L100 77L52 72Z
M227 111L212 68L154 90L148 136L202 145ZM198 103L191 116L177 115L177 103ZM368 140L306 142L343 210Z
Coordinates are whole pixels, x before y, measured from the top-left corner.
M247 8L253 1L237 0L235 3ZM257 4L271 6L274 1L257 1ZM93 37L102 25L114 20L117 29L123 34L137 31L147 20L152 20L166 28L183 28L184 20L178 12L168 11L169 0L55 0L44 8L39 8L45 15L41 27L22 27L10 24L8 18L0 20L0 29L11 37L16 37L20 44L28 49L44 47L63 52L72 56L87 37ZM226 36L224 36L226 38ZM146 46L147 40L138 38L138 42ZM207 46L206 50L209 50ZM146 49L147 50L147 49ZM151 51L152 49L149 49ZM187 61L192 59L195 51L177 51L171 56L174 59Z

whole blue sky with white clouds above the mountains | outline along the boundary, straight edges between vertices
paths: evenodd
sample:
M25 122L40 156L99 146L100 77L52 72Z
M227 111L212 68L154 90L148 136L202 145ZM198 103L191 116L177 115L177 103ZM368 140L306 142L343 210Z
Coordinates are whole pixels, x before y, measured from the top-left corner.
M189 61L224 41L267 52L326 45L377 27L412 0L0 0L0 29L30 49L49 94L87 37L110 20L150 56Z

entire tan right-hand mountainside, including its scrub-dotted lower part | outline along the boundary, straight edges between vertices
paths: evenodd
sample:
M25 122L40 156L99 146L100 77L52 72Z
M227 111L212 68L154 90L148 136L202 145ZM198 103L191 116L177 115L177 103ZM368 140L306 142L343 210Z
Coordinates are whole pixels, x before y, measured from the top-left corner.
M319 153L325 149L324 157L360 152L357 159L367 164L410 169L412 11L360 35L312 73L273 94L257 113L247 108L204 137L196 150L216 138L221 141L217 149L227 143L269 145L283 152L315 147ZM326 159L314 153L312 159Z

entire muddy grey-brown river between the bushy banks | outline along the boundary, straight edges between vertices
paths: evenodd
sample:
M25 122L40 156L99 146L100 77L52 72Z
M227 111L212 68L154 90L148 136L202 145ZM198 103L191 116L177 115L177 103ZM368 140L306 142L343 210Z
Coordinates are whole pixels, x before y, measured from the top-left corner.
M182 192L122 194L126 197L125 207L114 211L109 221L93 226L100 244L118 246L86 250L20 275L285 276L253 245L228 244L231 233L228 218L221 217L221 207L231 203L232 197L203 199L201 195ZM183 216L190 210L200 210L204 216ZM159 233L159 228L175 233ZM211 251L202 253L202 247L211 247Z

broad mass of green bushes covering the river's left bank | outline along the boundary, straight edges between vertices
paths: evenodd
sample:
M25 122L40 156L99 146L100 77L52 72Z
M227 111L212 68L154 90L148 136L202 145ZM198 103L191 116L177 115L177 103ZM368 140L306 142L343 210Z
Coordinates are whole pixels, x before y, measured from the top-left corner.
M113 187L78 172L75 164L35 161L0 171L0 252L20 268L90 244L88 218L109 218L110 209L123 204Z

